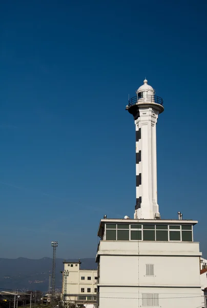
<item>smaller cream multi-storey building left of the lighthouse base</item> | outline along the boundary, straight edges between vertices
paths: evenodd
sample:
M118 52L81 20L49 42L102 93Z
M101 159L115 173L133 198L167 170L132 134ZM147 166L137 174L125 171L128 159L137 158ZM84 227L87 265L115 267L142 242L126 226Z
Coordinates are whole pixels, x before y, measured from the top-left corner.
M80 264L64 262L62 300L93 307L97 300L97 270L80 269Z

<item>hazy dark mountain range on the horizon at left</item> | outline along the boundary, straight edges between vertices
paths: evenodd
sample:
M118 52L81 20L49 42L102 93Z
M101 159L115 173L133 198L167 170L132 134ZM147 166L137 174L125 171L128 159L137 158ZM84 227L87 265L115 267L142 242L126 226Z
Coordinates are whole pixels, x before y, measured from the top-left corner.
M61 290L63 262L76 262L77 259L56 259L56 288ZM97 263L93 258L81 259L82 269L96 269ZM49 275L52 274L52 259L6 259L0 258L0 289L10 290L38 290L47 292Z

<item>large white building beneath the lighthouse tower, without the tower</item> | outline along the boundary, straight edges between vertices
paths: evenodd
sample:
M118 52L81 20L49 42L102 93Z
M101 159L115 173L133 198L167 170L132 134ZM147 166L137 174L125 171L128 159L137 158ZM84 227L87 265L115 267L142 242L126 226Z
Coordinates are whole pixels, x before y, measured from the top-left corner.
M96 256L98 307L201 306L196 223L102 219Z

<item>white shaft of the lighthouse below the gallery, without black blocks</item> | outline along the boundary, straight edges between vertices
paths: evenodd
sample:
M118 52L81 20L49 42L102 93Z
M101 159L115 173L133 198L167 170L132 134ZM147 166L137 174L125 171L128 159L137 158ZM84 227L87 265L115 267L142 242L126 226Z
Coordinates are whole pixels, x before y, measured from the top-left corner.
M139 118L135 120L136 130L140 130L140 139L136 140L137 151L141 150L141 161L136 163L136 198L141 204L135 207L137 219L154 219L158 213L157 204L157 166L156 166L156 121L158 112L152 107L139 108Z

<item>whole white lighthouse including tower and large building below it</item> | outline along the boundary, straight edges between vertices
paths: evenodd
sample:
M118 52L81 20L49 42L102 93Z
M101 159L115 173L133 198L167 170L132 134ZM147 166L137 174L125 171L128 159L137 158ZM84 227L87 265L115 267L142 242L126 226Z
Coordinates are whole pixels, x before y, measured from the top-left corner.
M161 219L157 203L156 122L164 110L147 80L126 109L136 129L134 219L101 219L96 261L99 308L202 307L197 221Z

